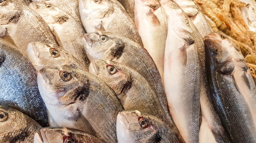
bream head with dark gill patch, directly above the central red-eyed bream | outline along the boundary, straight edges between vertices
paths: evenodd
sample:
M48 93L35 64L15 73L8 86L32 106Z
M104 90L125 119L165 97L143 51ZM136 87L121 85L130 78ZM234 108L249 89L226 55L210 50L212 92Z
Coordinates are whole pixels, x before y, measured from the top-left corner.
M124 50L122 39L110 32L92 32L83 37L83 45L89 60L119 58Z

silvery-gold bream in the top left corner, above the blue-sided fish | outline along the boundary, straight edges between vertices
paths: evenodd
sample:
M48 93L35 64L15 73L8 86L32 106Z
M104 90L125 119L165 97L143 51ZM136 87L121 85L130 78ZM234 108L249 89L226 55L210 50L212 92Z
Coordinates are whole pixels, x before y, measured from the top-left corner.
M30 42L43 42L59 45L43 18L28 6L16 0L3 0L0 4L0 29L5 29L22 54L27 56ZM29 17L29 18L28 18Z

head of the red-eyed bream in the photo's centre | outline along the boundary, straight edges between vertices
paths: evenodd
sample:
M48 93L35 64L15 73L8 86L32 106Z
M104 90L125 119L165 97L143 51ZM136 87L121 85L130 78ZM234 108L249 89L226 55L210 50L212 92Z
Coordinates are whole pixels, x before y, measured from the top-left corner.
M108 85L117 93L118 98L128 85L132 85L132 77L130 71L124 66L114 61L95 59L92 60L89 66L89 72L98 76L107 82Z

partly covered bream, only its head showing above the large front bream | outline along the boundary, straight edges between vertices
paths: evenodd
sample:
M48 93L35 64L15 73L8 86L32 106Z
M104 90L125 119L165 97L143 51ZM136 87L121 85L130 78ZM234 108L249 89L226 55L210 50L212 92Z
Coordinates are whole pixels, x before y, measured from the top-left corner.
M36 72L44 67L66 66L88 71L84 63L61 47L48 43L31 42L27 46L27 56Z

